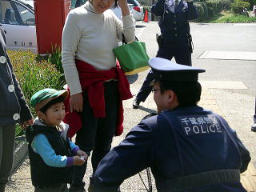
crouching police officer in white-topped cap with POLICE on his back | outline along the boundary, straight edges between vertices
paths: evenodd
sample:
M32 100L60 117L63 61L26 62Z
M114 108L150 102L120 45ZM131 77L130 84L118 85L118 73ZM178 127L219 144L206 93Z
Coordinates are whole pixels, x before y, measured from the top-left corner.
M201 85L192 66L150 59L158 114L143 119L110 150L90 191L117 191L122 182L150 167L158 191L246 191L240 173L249 151L224 118L197 106Z

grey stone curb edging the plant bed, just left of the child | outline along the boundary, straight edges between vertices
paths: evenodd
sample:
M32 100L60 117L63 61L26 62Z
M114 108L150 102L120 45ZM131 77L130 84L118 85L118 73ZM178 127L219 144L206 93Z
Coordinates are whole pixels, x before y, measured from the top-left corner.
M13 166L10 170L10 176L12 176L16 170L18 170L19 166L22 165L22 162L26 159L26 155L28 154L27 143L23 142L18 150L14 151L14 158L13 158Z

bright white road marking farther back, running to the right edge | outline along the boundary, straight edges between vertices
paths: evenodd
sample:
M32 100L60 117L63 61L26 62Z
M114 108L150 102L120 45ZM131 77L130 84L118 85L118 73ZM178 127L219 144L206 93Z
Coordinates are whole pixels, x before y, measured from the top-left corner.
M206 50L198 58L199 59L256 61L256 52Z

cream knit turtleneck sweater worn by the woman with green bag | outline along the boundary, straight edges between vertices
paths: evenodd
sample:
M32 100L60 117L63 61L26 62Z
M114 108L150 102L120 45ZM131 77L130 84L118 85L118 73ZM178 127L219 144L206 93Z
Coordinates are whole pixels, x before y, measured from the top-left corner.
M123 17L121 22L112 10L96 13L89 1L71 10L62 33L62 65L70 94L82 92L75 58L97 70L110 70L116 66L113 49L118 46L118 39L122 40L124 34L126 42L133 42L134 33L131 15Z

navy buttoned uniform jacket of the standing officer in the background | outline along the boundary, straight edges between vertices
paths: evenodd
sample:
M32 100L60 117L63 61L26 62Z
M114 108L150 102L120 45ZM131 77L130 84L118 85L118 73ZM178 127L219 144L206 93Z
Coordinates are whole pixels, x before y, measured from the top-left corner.
M151 11L155 15L161 16L158 22L162 34L160 50L178 49L180 46L183 49L187 47L187 35L190 34L189 20L198 18L198 11L195 9L194 3L181 0L174 8L172 0L158 0L152 6Z

